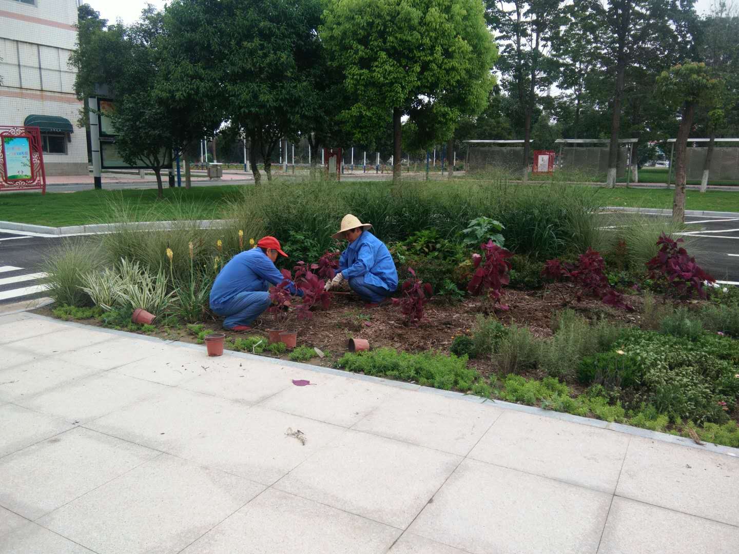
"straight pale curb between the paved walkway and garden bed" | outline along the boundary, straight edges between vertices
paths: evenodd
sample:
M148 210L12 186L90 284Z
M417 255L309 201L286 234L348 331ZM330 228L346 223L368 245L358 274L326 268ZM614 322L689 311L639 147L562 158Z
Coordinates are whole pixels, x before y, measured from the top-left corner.
M81 329L90 329L89 325L78 324L73 321L62 321L55 318L49 318L46 315L40 315L28 312L32 318L43 319L47 321L55 321L56 323L66 324L69 326L78 327ZM0 318L2 315L0 315ZM149 337L146 335L137 335L135 333L127 331L117 331L115 329L105 329L104 327L95 327L97 331L107 332L110 335L125 336L128 338L137 338L145 341L158 341L174 346L180 346L188 349L196 349L202 352L203 346L200 344L185 343L182 341L165 341L156 337ZM454 400L465 400L467 402L473 402L482 404L483 406L491 406L495 408L503 408L514 411L523 411L527 414L537 415L539 417L548 417L555 420L567 421L570 423L578 423L579 425L588 425L590 427L605 428L610 431L617 433L624 433L635 437L642 437L650 440L659 440L661 442L670 442L675 445L687 446L688 448L695 448L697 450L709 451L715 454L724 454L726 456L732 456L735 458L739 457L739 448L732 448L730 446L716 445L706 442L705 445L695 444L691 439L685 437L678 437L677 435L671 435L667 433L659 433L657 431L649 431L638 427L632 427L631 425L622 425L621 423L608 423L607 421L594 420L589 417L580 417L572 414L565 414L560 411L544 410L537 408L536 406L525 406L523 404L516 404L511 402L505 402L503 400L490 400L483 397L474 396L471 394L463 394L455 391L445 391L441 389L433 389L427 386L420 386L414 383L405 383L404 381L395 381L390 379L384 379L383 377L374 377L372 375L361 375L358 373L344 372L341 369L333 369L321 366L312 366L309 363L299 363L290 360L279 360L276 358L268 358L267 356L258 356L255 354L248 354L246 352L233 352L231 350L224 351L224 355L232 356L234 358L242 358L245 360L258 361L260 363L271 363L276 366L282 367L294 367L296 369L305 369L307 371L323 373L327 375L338 375L340 377L347 377L349 379L367 381L369 383L376 383L378 385L392 386L396 389L406 389L412 391L418 391L424 394L436 394L437 396L443 396L446 398L452 398Z

